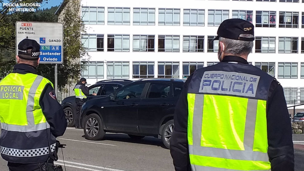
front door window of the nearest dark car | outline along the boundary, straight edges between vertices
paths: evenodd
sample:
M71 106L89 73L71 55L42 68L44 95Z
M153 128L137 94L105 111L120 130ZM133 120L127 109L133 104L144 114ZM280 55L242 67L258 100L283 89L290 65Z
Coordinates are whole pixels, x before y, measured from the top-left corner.
M146 83L130 85L117 92L115 100L140 98Z

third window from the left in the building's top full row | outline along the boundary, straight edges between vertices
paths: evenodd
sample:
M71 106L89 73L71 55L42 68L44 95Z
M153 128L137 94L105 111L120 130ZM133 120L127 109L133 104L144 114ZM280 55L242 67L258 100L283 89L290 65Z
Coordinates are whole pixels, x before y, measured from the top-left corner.
M133 8L133 25L155 25L155 8Z

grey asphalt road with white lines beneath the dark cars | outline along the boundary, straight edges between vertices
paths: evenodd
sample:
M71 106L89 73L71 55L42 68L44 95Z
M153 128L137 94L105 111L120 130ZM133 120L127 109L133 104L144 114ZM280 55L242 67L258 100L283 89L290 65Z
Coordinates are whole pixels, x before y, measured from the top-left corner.
M106 134L103 141L89 141L83 135L83 130L68 128L58 138L67 144L63 149L67 171L174 171L170 150L157 138L132 140L125 134ZM61 150L58 156L56 163L63 165ZM304 170L303 161L304 151L295 150L296 171ZM7 170L2 158L0 170Z

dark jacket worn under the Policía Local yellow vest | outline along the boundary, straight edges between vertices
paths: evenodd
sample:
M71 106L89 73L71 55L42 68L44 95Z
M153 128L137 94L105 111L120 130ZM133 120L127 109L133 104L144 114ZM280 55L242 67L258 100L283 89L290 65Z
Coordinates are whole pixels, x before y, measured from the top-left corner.
M38 74L36 68L28 64L16 64L14 66L13 73L26 74L33 73ZM45 86L41 96L39 104L42 112L50 125L51 133L55 137L62 136L67 127L67 121L65 119L64 111L61 105L58 103L53 87L48 84ZM8 166L12 171L28 171L38 169L38 163L34 164L18 164L8 162Z

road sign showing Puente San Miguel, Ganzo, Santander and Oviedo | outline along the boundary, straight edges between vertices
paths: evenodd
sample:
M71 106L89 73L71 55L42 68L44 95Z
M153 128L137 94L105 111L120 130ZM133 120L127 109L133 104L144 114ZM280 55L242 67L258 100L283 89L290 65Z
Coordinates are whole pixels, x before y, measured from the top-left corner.
M63 24L54 22L16 22L16 54L23 39L36 40L40 45L41 64L63 63Z

